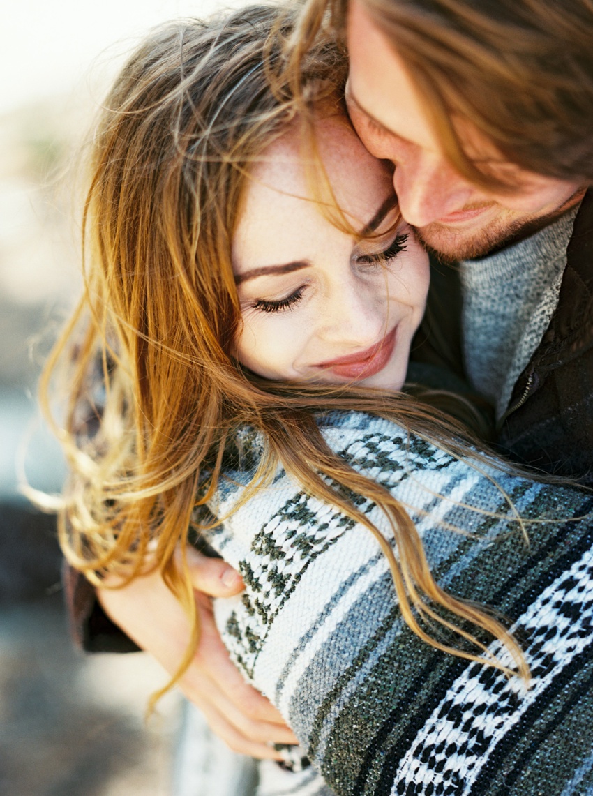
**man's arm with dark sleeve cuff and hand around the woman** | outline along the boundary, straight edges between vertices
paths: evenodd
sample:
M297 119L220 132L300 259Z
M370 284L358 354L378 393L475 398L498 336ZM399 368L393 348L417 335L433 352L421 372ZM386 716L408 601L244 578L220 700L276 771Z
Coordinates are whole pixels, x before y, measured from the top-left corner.
M88 397L81 400L80 444L96 435L103 414L103 360L89 373ZM204 712L210 728L233 751L280 759L272 743L295 743L279 712L232 664L213 622L211 597L243 590L237 572L223 560L193 548L187 552L201 622L201 638L189 668L178 681L185 696ZM158 573L122 589L95 590L64 562L64 596L74 641L89 652L146 650L173 677L185 655L189 626L184 612Z

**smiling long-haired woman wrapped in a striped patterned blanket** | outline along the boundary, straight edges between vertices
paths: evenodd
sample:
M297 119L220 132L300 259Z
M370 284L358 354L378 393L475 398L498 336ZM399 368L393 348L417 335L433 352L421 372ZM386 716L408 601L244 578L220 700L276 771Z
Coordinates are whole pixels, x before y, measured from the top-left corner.
M376 666L373 658L369 671L378 678L375 716L383 724L385 710L401 715L399 704L385 699L385 683L406 659L408 666L421 661L427 673L444 666L451 687L458 677L473 676L472 665L478 677L486 671L486 701L507 677L519 683L511 690L526 688L529 665L537 667L540 659L521 652L505 623L473 602L487 596L486 603L507 611L523 604L525 592L513 595L519 603L508 603L506 580L490 572L484 583L470 583L464 566L490 560L490 545L501 537L507 571L514 564L516 575L517 562L533 569L521 561L520 542L505 536L521 525L513 505L527 517L533 501L550 504L554 530L538 540L538 550L553 539L563 552L566 533L558 517L586 507L579 492L564 490L562 509L554 513L553 491L506 475L463 442L458 426L394 392L403 384L423 313L427 258L397 224L390 174L365 152L334 99L335 73L344 66L340 54L320 49L311 55L313 112L296 108L274 65L291 21L284 19L279 29L276 23L275 11L257 7L206 26L188 23L156 33L111 92L96 135L86 208L93 248L88 290L56 355L64 349L73 354L65 363L74 477L62 541L68 560L103 587L158 568L195 618L185 545L192 525L204 535L214 524L210 543L243 569L248 585L243 607L224 619L236 660L260 688L290 696L288 704L276 693L334 790L388 793L400 788L389 778L400 758L389 747L388 762L380 761L385 751L376 726L365 722L359 736L348 712L344 735L334 724L345 715L339 706L330 712L329 727L326 712L322 718L319 698L325 702L338 685L332 677L365 646L379 643L368 634L380 621L388 665ZM324 92L330 75L332 88ZM303 162L303 136L317 147L317 158ZM319 164L322 178L314 181L311 166ZM82 337L73 334L79 322ZM98 352L104 396L96 388ZM95 417L81 417L89 403ZM383 419L349 414L352 409ZM279 496L282 505L270 510L269 501ZM196 502L201 509L194 513ZM439 534L458 528L475 535L461 559L464 537L434 546ZM570 528L586 539L583 523ZM419 535L425 530L432 540L428 560ZM503 549L502 542L495 546ZM290 564L272 563L287 558L285 548ZM314 562L340 551L329 571L340 585L348 573L358 586L370 573L369 587L349 594L378 614L353 614L341 593L323 590L327 570ZM579 564L576 553L570 555ZM315 572L306 591L311 610L294 611L299 584ZM531 592L540 589L536 579L525 583ZM587 578L579 581L579 588L588 585ZM302 642L312 631L311 618L324 611L334 621L334 605L346 620L346 638L356 628L360 641L324 667L325 685L310 688L310 700L303 699L285 688L286 643ZM583 617L584 609L579 621ZM549 629L540 614L533 622L535 634ZM284 646L267 634L277 628ZM528 636L527 650L532 641ZM257 661L246 656L260 658L267 650L272 668L259 673ZM452 655L431 658L436 653L428 650ZM570 655L560 657L564 670ZM299 665L309 672L309 660ZM557 682L560 669L552 667L549 683ZM402 682L407 690L413 685ZM356 693L358 699L361 689ZM366 689L365 715L368 695ZM350 702L349 695L339 696ZM434 696L419 692L427 704ZM574 707L572 696L563 706ZM496 724L500 716L493 716ZM321 720L324 726L316 728ZM508 721L500 726L509 738ZM482 751L490 757L483 743ZM582 762L583 747L575 755ZM574 763L567 762L571 771ZM425 779L430 789L432 774Z

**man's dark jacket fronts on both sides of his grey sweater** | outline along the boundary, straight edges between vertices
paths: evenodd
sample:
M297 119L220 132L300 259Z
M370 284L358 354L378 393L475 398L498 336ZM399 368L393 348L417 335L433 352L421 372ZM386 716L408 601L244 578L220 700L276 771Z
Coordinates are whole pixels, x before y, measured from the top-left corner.
M514 462L591 486L593 189L579 208L567 255L556 311L490 441ZM431 263L427 315L412 347L412 360L440 365L463 378L461 316L458 272Z

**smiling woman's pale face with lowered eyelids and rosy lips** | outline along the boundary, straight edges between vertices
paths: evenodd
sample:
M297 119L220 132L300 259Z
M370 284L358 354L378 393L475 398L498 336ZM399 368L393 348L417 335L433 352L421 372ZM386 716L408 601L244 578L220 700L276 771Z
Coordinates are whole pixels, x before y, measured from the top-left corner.
M239 361L267 379L400 389L423 316L428 258L396 219L392 175L344 119L318 123L337 204L357 241L324 217L307 186L298 131L252 172L232 244L243 328ZM383 233L383 234L381 234Z

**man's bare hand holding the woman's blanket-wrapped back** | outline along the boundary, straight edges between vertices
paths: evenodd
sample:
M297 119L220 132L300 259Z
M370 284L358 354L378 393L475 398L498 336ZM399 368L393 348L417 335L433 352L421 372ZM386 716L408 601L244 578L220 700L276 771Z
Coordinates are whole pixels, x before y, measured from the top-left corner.
M188 549L196 589L201 636L178 687L204 713L210 728L233 751L260 759L281 759L270 743L298 743L276 708L244 681L232 664L214 623L209 595L231 597L243 589L234 569L220 559ZM178 669L189 641L189 622L158 572L123 589L97 589L107 615L164 666Z

